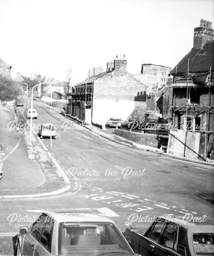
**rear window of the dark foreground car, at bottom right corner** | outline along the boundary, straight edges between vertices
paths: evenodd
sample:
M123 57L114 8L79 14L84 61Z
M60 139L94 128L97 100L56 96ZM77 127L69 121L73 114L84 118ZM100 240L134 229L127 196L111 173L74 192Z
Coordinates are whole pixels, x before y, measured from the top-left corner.
M214 233L193 233L195 255L214 255Z

